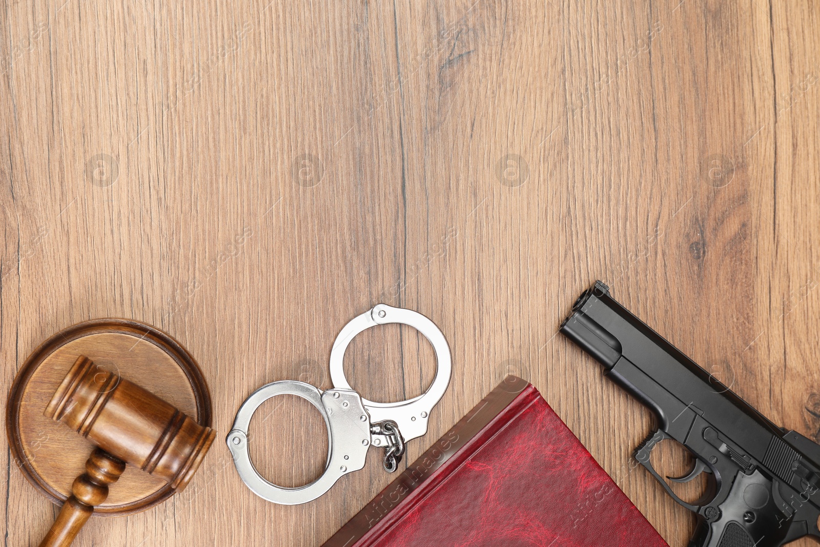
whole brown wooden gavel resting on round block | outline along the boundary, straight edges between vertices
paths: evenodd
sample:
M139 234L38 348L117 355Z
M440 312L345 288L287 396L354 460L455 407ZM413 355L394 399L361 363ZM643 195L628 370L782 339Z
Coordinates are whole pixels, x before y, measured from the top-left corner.
M125 464L181 491L211 447L215 431L156 395L80 356L57 388L45 416L96 444L85 472L40 547L67 547L108 496Z

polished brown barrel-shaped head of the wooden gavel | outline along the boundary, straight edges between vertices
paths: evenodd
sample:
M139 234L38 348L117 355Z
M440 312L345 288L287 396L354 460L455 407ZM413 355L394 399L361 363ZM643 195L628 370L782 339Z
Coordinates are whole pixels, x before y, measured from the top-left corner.
M194 476L216 436L210 427L83 356L44 414L176 490Z

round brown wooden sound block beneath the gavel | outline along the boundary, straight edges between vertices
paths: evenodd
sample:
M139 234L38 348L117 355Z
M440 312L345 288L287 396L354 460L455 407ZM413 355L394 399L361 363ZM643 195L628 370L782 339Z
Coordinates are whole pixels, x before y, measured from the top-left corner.
M95 319L70 326L25 360L9 394L6 431L12 462L35 488L62 504L85 470L93 444L43 411L76 359L99 367L165 399L202 426L211 426L211 398L194 358L171 336L125 319ZM94 514L123 515L159 504L171 485L127 466Z

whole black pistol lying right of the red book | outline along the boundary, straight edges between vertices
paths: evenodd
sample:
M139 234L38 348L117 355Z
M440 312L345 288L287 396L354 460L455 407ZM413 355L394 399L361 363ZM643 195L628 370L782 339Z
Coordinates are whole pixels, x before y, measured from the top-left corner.
M678 504L697 513L690 547L773 547L820 540L820 444L770 422L726 385L617 303L600 281L581 294L561 332L654 414L635 459ZM671 481L711 475L692 504L649 461L661 440L683 444L695 467Z

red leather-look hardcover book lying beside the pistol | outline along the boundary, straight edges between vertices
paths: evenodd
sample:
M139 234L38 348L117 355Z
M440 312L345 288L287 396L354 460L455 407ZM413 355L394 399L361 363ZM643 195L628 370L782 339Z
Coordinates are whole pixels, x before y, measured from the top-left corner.
M324 547L668 547L538 390L508 376Z

